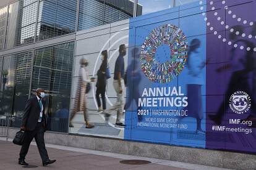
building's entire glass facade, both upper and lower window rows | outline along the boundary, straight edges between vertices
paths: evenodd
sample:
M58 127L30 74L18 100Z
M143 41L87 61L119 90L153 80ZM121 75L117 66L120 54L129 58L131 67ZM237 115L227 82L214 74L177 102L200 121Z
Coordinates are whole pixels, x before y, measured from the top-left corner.
M19 0L0 7L0 115L19 127L26 100L41 87L48 129L68 132L75 39L40 42L186 2L193 0Z

